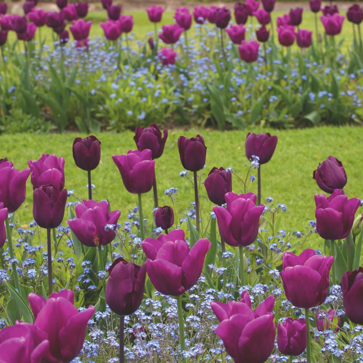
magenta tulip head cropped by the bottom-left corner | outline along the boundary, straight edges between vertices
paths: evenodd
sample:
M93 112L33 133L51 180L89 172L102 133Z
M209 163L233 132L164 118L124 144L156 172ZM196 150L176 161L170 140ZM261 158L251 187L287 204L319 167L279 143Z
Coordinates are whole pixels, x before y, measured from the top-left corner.
M53 362L47 334L37 326L17 321L0 331L0 362Z

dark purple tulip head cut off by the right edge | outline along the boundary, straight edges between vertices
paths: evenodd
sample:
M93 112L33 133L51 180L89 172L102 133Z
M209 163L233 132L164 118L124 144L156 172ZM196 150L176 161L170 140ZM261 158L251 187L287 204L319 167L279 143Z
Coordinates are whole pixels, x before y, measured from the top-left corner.
M344 310L351 322L363 324L363 267L347 271L342 277Z

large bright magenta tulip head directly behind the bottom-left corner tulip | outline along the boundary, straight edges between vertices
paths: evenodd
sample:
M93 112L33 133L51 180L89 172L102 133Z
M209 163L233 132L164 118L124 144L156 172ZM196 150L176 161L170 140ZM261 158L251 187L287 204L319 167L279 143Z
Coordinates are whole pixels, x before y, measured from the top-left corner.
M41 295L28 295L34 314L34 326L48 335L51 358L49 362L70 362L83 347L86 328L94 307L78 312L71 290L52 293L48 300ZM48 360L47 360L48 361Z

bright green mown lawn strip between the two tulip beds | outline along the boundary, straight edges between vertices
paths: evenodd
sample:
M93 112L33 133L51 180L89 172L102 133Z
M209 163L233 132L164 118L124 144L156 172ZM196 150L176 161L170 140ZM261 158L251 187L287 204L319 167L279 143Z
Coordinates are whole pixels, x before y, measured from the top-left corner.
M313 171L318 163L329 155L342 160L348 176L344 190L349 197L363 197L361 168L362 158L356 146L363 138L363 129L358 127L319 127L303 130L254 130L254 132L270 131L278 135L278 144L272 160L264 164L262 173L262 198L272 196L274 203L284 203L287 206L280 228L287 231L305 231L309 220L315 219L314 194L322 193L312 179ZM177 210L187 207L194 200L193 189L186 178L181 178L183 170L178 153L178 136L195 136L200 132L207 146L207 168L202 181L213 166L232 166L240 176L245 175L247 162L244 154L246 131L209 131L209 130L172 130L169 133L164 154L156 160L156 177L158 181L159 203L169 205L170 198L163 194L164 189L176 187L179 189ZM2 135L1 157L7 156L17 168L27 167L28 159L40 158L42 152L57 154L65 158L65 187L74 189L78 196L87 198L87 174L76 167L72 157L72 142L79 134L50 135ZM108 198L113 209L121 210L120 223L126 220L126 214L136 205L137 196L128 193L123 186L121 176L111 156L122 154L129 149L135 149L133 133L123 132L113 134L103 132L96 135L101 140L102 152L99 167L92 172L92 183L96 185L94 199ZM257 175L257 171L254 173ZM242 184L233 176L233 191L241 193ZM253 192L257 191L257 181L252 184ZM201 185L200 194L206 195ZM69 201L74 201L70 197ZM143 196L144 213L151 220L153 206L152 192ZM213 205L207 197L201 197L204 225L209 219L208 213ZM359 209L362 213L362 208ZM26 225L32 217L32 186L28 180L25 203L16 212L19 224ZM179 216L180 218L181 216ZM184 217L184 216L183 216ZM310 237L308 245L318 246L322 240L316 235Z

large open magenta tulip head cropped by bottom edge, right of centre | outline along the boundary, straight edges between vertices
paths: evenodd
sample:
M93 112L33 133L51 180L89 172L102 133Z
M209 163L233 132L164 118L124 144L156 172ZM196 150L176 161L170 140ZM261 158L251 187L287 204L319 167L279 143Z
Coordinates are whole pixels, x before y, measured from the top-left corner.
M253 311L247 291L239 302L211 302L220 321L215 332L234 362L263 363L269 358L276 335L273 305L274 298L269 296Z

